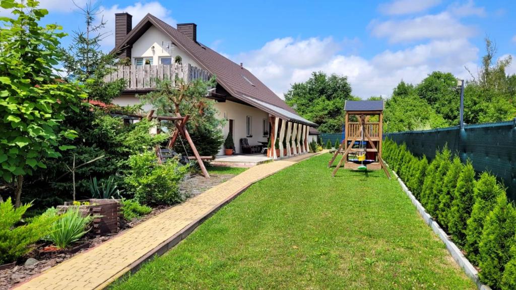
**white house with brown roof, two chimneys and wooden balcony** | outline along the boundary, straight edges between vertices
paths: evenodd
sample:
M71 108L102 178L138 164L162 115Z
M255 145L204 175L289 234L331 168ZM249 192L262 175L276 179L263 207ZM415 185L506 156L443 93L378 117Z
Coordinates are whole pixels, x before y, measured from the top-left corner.
M137 94L152 91L156 77L176 74L190 81L215 75L217 85L206 98L215 102L219 118L228 120L222 131L224 137L232 132L236 153L242 153L240 139L247 138L249 144L258 145L266 144L269 137L273 143L279 139L280 144L283 139L295 140L295 146L280 146L280 156L308 152L309 128L317 124L300 117L242 63L237 64L199 42L195 23L174 28L147 14L132 28L132 16L128 13L115 14L115 21L112 53L131 65L119 67L108 76L124 77L129 84L114 103L138 103ZM219 154L223 154L223 148ZM276 152L272 154L272 158L279 157Z

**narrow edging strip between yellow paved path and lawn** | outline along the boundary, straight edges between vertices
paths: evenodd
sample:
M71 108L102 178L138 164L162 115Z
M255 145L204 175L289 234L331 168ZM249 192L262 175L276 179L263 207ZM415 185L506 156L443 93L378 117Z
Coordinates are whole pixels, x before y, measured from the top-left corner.
M306 156L307 158L304 158L304 159L299 160L297 162L292 162L291 165L288 165L288 166L282 168L281 170L283 170L285 168L288 168L288 167L291 167L291 166L293 166L295 164L298 164L298 163L300 163L300 162L302 162L304 160L307 160L307 159L309 159L311 157L320 155L322 153L323 153L323 151L317 152L317 153L315 153L312 156ZM288 160L283 160L283 161L287 161L288 162ZM104 283L102 283L101 285L95 287L95 290L102 290L102 289L108 288L109 285L111 283L115 282L116 280L124 278L127 275L130 275L130 274L132 275L132 274L136 273L143 266L144 263L152 261L154 259L154 257L161 256L161 255L165 254L166 252L168 252L169 250L171 250L174 246L178 245L180 241L185 239L189 234L191 234L195 229L197 229L197 227L199 227L199 225L201 225L201 223L203 223L209 217L213 216L224 205L226 205L226 204L230 203L231 201L233 201L236 197L238 197L240 194L242 194L244 191L246 191L251 185L253 185L254 183L259 182L259 181L261 181L263 179L266 179L269 176L271 176L273 174L276 174L276 173L278 173L281 170L278 170L278 171L272 172L270 174L267 174L267 175L263 176L263 178L255 180L255 181L253 181L253 182L251 182L251 183L241 187L240 189L235 191L230 197L226 198L225 200L223 200L219 204L215 205L211 210L209 210L209 212L207 212L203 216L197 218L196 220L192 221L190 224L188 224L186 227L181 229L179 232L175 233L173 236L168 238L166 241L164 241L163 243L159 244L157 247L155 247L154 249L152 249L149 252L147 252L147 254L145 254L142 257L140 257L140 259L138 259L135 262L133 262L130 266L125 267L123 270L119 271L114 276L112 276L108 280L104 281Z

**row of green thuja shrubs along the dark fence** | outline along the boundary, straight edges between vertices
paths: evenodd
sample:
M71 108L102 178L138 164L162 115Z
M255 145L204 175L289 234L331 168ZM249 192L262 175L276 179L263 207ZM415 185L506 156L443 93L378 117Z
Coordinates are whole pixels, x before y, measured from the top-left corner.
M516 290L516 208L496 176L443 148L428 162L385 139L383 157L493 289Z

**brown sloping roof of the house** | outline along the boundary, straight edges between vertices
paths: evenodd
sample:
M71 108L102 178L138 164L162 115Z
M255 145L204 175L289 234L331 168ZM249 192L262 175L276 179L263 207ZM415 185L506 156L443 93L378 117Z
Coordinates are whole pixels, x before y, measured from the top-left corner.
M292 121L316 126L316 124L299 117L293 108L285 104L278 95L272 92L260 79L255 77L247 69L240 67L237 63L225 58L209 47L193 41L193 39L164 21L154 17L152 14L147 14L112 52L117 52L125 45L134 43L139 38L139 35L141 35L141 31L138 30L147 30L146 28L149 27L149 22L170 36L174 44L190 54L192 59L196 60L205 70L215 74L217 76L217 83L235 98L265 111L272 110L272 114L280 115L280 117L286 118L287 120L294 119ZM252 84L250 84L246 78ZM253 99L256 99L258 102L254 102ZM282 108L291 114L281 114L281 112L275 111L273 107L268 107L266 104Z

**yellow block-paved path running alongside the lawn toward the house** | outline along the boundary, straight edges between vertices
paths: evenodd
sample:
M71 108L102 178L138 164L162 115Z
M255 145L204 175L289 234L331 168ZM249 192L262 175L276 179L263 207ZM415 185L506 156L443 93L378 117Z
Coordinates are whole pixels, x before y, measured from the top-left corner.
M254 166L106 243L44 271L15 289L103 289L125 273L138 269L154 254L165 253L251 184L324 152Z

